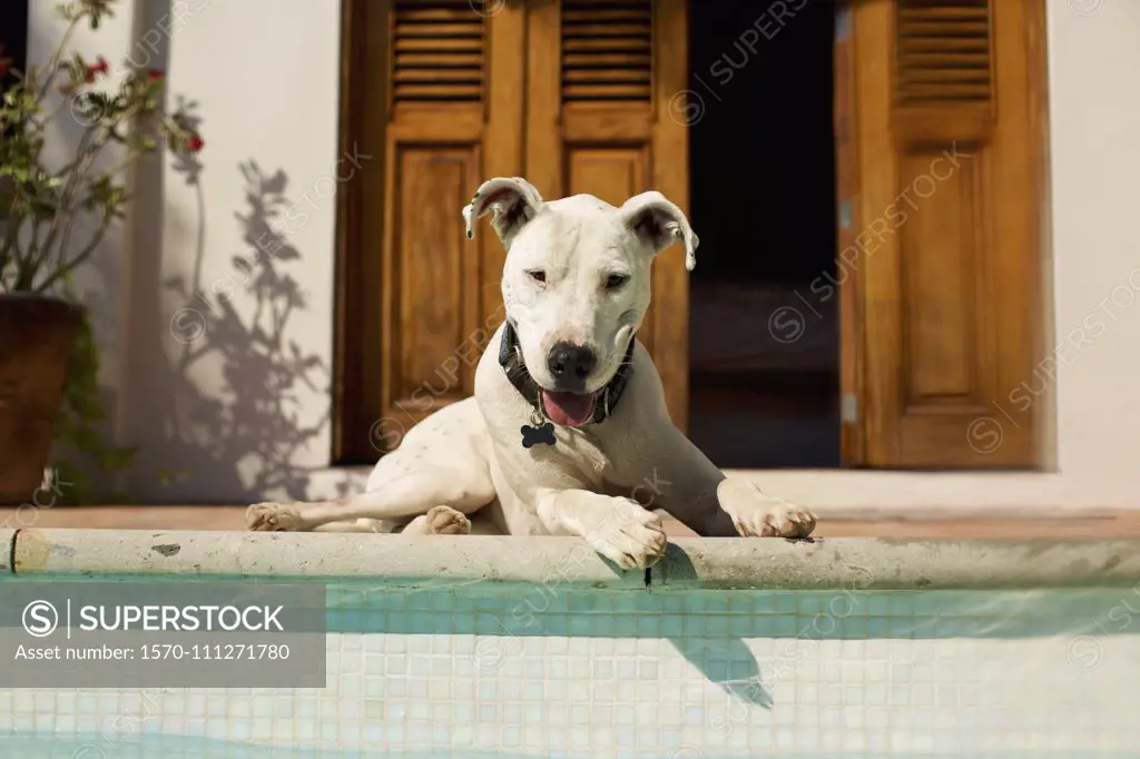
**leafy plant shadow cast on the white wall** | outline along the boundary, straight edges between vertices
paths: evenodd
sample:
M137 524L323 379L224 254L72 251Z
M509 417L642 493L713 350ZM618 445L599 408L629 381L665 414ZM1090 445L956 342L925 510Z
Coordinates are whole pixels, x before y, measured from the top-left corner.
M176 169L196 181L193 164ZM173 476L192 487L197 472L209 472L213 490L253 500L303 499L310 468L295 458L319 442L332 413L326 405L311 414L306 399L331 397L332 375L319 356L287 337L307 308L300 281L287 271L301 260L283 221L291 207L288 179L252 161L239 170L249 210L235 217L249 250L234 255L226 276L206 281L199 235L193 276L162 283L185 304L170 320L177 350L169 357L172 402L163 458L177 460L184 471ZM217 384L204 390L203 377Z

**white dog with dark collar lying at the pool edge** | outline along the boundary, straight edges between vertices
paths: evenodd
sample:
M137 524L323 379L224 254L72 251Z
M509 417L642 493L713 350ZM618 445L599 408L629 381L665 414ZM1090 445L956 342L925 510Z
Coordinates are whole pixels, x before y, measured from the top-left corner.
M697 236L660 193L620 209L592 195L546 203L526 180L484 182L467 237L491 213L506 248L506 320L475 393L432 414L340 501L256 504L251 530L579 536L624 569L665 552L660 508L701 536L806 537L815 516L725 478L669 419L635 334L653 258ZM480 529L482 528L482 529Z

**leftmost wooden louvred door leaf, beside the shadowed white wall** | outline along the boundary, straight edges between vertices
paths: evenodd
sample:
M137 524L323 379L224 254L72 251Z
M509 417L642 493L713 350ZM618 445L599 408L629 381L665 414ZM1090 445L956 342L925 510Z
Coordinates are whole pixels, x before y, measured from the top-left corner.
M388 444L472 394L502 321L502 246L486 220L467 240L461 211L483 180L522 168L523 11L513 2L392 3L380 271Z

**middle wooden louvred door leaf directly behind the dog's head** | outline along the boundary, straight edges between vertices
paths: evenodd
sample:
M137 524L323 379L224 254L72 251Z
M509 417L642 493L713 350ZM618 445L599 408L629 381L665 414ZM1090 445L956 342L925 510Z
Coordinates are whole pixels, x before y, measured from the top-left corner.
M650 189L689 210L685 0L530 0L526 177L545 198L613 205ZM700 235L700 230L697 230ZM699 258L699 255L698 255ZM689 415L689 279L676 245L653 264L638 337L674 422Z

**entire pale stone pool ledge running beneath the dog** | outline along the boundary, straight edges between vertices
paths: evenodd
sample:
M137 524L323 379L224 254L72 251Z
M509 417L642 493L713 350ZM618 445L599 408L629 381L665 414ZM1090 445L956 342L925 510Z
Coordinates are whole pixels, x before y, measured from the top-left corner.
M814 541L678 538L648 573L576 538L406 537L147 530L0 531L18 576L366 578L384 586L474 583L614 589L1017 589L1129 587L1140 540ZM7 568L6 568L7 569Z

